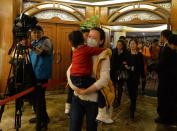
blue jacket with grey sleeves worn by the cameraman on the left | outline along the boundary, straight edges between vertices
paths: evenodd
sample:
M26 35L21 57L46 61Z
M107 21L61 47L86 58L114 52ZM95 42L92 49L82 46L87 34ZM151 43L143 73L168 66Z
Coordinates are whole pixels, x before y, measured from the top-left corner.
M52 73L53 47L47 37L32 42L31 63L37 79L49 79ZM38 50L41 53L38 53Z

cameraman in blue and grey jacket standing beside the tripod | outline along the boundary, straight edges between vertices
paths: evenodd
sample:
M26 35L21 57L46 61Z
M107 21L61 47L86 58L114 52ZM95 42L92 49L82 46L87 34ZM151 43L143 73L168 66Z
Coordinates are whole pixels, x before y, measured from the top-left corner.
M31 52L30 58L36 76L36 88L32 92L32 103L36 118L30 119L30 123L36 122L36 130L47 130L49 117L46 111L45 88L43 84L51 78L53 47L50 39L43 36L41 26L35 26L30 30Z

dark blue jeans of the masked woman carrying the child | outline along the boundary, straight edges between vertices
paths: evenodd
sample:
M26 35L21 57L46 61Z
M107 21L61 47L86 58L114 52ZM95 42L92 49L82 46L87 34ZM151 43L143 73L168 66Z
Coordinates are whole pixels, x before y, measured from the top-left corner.
M69 131L82 130L84 115L86 115L86 131L97 131L98 104L96 102L81 100L73 95L70 112Z

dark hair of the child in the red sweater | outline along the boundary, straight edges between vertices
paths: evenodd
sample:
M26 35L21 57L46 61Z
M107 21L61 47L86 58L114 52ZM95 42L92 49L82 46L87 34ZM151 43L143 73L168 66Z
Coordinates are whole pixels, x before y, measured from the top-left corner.
M84 44L84 37L81 31L76 30L72 31L68 35L69 41L72 44L72 47L78 47L78 45L83 45Z

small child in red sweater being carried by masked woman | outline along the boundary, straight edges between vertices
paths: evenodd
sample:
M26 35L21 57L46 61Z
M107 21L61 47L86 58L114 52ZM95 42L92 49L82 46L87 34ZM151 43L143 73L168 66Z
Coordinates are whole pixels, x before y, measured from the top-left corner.
M68 38L73 48L70 78L75 86L85 89L95 82L95 78L91 76L93 67L91 56L100 54L106 48L90 47L84 44L81 31L72 31ZM94 41L91 41L91 43L94 43ZM67 105L70 105L71 101L67 102Z

